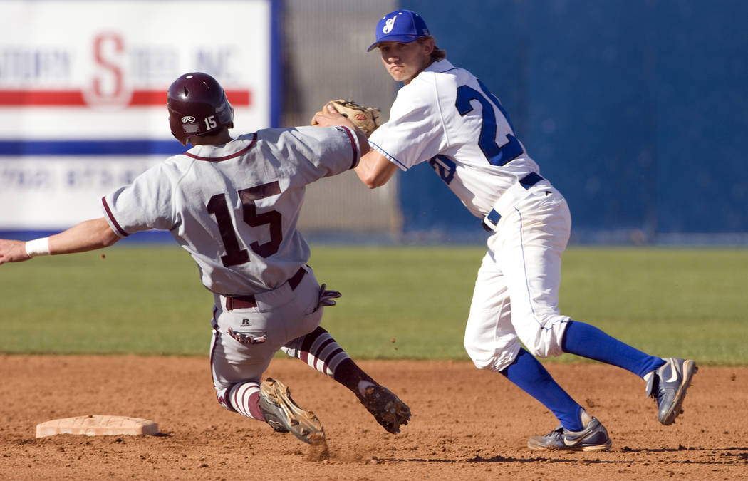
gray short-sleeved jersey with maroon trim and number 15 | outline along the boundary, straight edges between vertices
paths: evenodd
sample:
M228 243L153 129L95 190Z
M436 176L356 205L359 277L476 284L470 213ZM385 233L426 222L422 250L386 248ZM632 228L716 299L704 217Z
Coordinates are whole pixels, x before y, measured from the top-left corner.
M309 259L296 230L307 184L354 168L360 157L346 127L263 129L170 157L102 197L102 209L121 237L170 231L212 292L265 292Z

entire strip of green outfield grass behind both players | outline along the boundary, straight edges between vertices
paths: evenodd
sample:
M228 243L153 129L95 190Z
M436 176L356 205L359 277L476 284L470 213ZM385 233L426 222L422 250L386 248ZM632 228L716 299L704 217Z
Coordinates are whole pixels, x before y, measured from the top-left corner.
M355 358L467 360L462 336L484 252L315 245L317 278L343 292L322 325ZM560 307L645 352L748 364L746 272L748 250L570 248ZM0 292L0 352L208 352L212 295L176 246L6 264Z

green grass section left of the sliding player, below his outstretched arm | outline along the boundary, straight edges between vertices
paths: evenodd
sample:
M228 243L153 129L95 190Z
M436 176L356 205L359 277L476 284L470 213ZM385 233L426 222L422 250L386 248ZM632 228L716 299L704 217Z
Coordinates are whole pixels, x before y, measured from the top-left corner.
M0 292L1 352L208 352L212 295L178 247L4 264Z

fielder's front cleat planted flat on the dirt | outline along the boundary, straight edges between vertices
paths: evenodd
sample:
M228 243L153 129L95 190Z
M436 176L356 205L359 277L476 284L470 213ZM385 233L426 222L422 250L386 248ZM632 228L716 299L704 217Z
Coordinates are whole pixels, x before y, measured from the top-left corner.
M607 429L597 417L581 412L585 428L581 431L569 431L562 425L545 436L533 436L527 441L527 447L536 451L607 451L613 441Z

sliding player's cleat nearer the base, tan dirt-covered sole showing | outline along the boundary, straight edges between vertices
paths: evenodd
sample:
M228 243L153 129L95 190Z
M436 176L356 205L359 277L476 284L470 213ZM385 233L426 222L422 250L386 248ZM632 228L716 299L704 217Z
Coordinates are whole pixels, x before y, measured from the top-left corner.
M291 399L291 393L282 382L267 378L260 383L260 410L266 423L278 432L292 432L308 444L325 437L322 423L312 411L305 411Z

